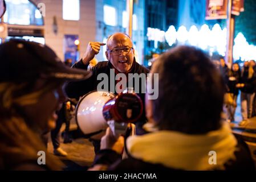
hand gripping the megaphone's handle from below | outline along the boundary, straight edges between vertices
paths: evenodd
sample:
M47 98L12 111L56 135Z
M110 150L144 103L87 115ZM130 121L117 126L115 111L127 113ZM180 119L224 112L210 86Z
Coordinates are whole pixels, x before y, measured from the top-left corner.
M111 149L116 151L118 154L121 154L124 149L124 137L115 137L111 129L108 127L105 135L101 138L100 149Z

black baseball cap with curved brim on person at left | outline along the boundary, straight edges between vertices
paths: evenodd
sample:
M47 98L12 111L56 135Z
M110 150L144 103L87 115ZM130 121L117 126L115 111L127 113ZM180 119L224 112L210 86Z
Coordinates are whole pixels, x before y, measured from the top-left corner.
M46 45L17 39L0 44L0 82L79 81L91 75L91 71L67 67Z

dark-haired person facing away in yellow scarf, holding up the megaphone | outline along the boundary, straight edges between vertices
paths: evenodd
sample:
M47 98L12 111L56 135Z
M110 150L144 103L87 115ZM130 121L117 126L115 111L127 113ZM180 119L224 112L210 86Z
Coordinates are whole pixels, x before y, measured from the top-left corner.
M159 73L159 97L148 100L146 94L150 122L144 128L149 133L124 141L108 128L90 170L255 169L245 142L221 120L224 82L204 52L173 48L159 57L151 73ZM150 88L150 79L147 84ZM129 158L121 160L123 147Z

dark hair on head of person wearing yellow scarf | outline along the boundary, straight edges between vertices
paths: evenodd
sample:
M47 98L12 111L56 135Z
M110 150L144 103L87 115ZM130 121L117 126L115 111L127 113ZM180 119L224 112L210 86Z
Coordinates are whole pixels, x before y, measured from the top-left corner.
M203 134L221 126L224 81L201 49L180 46L153 65L159 73L159 97L153 114L160 130Z

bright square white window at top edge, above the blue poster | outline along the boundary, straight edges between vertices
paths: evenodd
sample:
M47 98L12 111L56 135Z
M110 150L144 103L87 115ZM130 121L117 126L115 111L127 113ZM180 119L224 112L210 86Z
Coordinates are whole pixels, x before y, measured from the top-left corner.
M63 0L62 16L64 20L80 19L80 1L79 0Z

